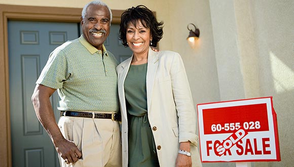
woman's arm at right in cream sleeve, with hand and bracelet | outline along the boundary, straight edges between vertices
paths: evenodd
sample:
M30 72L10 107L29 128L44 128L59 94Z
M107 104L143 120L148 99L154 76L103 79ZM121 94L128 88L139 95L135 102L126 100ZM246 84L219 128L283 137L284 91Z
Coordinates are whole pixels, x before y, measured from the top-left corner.
M196 113L185 66L175 53L171 64L171 81L179 125L179 149L190 152L190 144L197 145ZM192 166L191 156L178 153L176 166Z

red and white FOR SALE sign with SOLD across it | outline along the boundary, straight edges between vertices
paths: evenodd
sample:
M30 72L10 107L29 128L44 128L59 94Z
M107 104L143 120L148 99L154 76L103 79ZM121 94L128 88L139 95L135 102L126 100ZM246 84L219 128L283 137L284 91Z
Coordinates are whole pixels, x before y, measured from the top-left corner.
M198 104L202 162L280 161L272 97Z

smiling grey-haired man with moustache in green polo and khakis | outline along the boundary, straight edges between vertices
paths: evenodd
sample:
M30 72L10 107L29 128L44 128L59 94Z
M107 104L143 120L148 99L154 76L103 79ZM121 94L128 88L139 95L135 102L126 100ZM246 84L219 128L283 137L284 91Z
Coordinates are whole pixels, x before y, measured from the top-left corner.
M87 4L83 35L56 48L36 81L33 106L61 166L121 166L118 62L103 46L111 20L106 4ZM49 99L56 90L58 125Z

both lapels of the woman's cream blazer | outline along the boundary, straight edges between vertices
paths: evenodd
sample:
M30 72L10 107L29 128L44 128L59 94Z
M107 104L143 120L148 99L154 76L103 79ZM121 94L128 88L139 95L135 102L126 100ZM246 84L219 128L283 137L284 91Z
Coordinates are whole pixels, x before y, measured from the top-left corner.
M159 58L158 58L159 54L160 54L160 52L154 52L154 51L152 51L151 48L149 48L148 66L147 66L147 73L146 73L146 91L147 91L148 110L150 109L150 104L151 104L151 100L152 100L152 90L153 90L154 80L155 80L155 76L156 76L156 70L157 70L158 62L159 62ZM121 64L121 67L123 69L118 70L118 75L120 77L119 89L123 89L123 85L124 85L127 73L129 71L132 58L133 58L133 55Z

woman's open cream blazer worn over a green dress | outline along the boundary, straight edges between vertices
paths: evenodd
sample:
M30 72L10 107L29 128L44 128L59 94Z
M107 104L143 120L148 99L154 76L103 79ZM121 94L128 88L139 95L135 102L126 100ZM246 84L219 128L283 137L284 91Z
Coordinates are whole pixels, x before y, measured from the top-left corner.
M123 166L128 166L128 119L124 82L132 57L117 66ZM202 166L196 147L196 113L185 67L178 53L154 52L149 49L146 92L148 119L160 166L175 166L179 142L186 141L191 142L193 166Z

